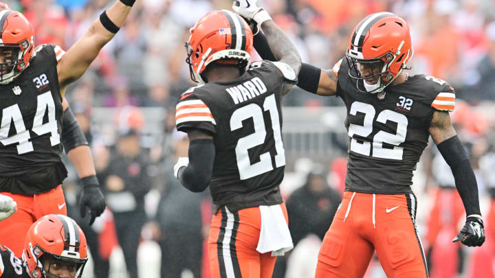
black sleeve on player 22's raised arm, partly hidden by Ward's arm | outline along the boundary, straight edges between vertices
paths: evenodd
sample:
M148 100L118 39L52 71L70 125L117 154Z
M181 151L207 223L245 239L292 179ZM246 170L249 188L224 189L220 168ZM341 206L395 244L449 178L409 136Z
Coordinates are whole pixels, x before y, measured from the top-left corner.
M254 36L253 45L254 49L258 51L258 54L263 60L276 61L263 32L258 32L258 34ZM309 93L316 93L316 91L318 91L318 85L320 84L320 75L321 69L319 67L314 67L303 62L298 74L298 83L296 85Z

